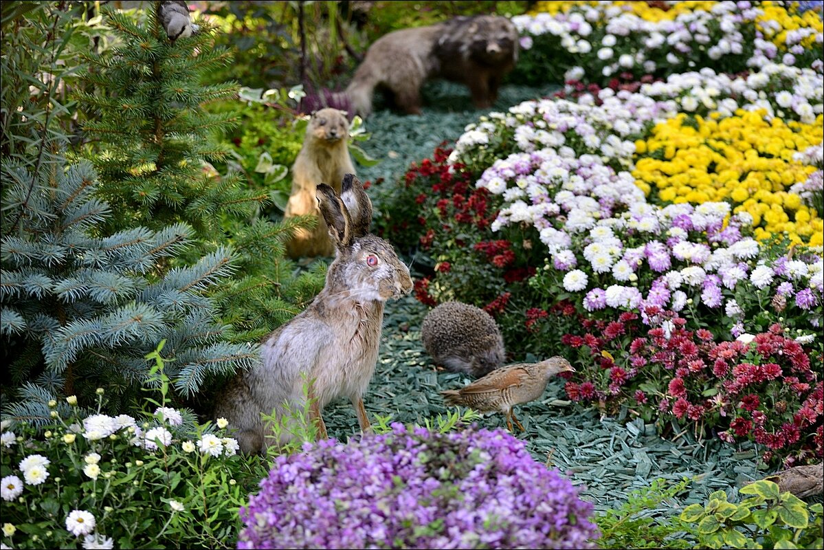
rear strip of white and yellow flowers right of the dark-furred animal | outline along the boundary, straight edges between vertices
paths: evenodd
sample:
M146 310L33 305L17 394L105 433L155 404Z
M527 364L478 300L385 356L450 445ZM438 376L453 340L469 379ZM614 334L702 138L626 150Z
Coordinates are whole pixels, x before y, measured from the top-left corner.
M524 50L513 78L525 82L547 68L558 80L587 68L602 84L620 73L740 73L770 61L822 70L821 17L778 2L538 2L513 23Z

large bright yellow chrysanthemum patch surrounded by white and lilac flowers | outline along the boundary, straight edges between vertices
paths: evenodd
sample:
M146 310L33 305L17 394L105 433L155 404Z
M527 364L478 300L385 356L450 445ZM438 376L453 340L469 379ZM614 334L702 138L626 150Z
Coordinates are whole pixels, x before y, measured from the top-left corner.
M632 173L644 193L654 186L664 202L730 202L733 212L752 215L758 239L783 233L794 243L821 246L822 219L786 189L815 171L793 154L822 143L822 125L822 115L805 125L765 120L764 111L714 112L707 119L681 113L635 142Z

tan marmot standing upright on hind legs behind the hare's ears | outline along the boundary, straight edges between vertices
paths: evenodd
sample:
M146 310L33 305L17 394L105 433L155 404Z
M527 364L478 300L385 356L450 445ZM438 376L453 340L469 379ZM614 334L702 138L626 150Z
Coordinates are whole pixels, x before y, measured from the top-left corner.
M348 141L349 120L344 111L321 109L311 116L303 147L292 165L292 191L283 218L314 214L317 225L295 232L286 243L290 257L335 256L335 246L317 207L315 187L325 183L339 194L344 175L355 173Z

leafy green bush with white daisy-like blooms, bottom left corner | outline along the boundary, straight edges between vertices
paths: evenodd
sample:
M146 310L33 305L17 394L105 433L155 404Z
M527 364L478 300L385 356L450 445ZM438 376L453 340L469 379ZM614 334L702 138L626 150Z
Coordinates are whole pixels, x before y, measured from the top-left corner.
M232 548L263 460L237 455L222 419L151 399L143 418L106 416L97 396L49 402L44 431L3 422L4 548Z

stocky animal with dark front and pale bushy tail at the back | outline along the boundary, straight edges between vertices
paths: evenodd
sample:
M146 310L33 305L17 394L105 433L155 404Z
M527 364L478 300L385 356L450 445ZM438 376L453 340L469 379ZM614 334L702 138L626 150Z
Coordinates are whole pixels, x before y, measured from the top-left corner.
M472 102L486 109L498 98L503 75L515 66L518 34L502 16L460 16L382 36L369 47L346 88L358 115L372 111L376 87L388 89L396 106L420 113L420 87L447 78L469 87Z

